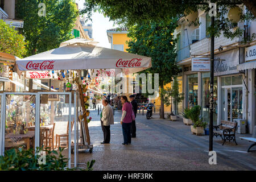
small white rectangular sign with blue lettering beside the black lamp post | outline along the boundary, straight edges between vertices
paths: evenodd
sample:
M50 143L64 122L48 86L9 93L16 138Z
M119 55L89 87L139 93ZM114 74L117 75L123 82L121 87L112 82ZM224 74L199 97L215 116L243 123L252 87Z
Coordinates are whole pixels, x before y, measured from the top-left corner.
M192 57L192 72L209 72L210 59L207 57Z

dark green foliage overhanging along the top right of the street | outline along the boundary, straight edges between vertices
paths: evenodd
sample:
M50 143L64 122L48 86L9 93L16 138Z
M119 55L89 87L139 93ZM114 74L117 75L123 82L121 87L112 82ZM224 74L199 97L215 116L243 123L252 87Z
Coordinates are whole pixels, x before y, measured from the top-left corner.
M168 21L175 17L180 18L196 10L208 12L210 10L208 2L208 0L85 0L85 8L80 13L87 14L90 19L94 11L100 11L105 16L108 16L110 20L115 21L121 26L129 27L134 24L141 24L142 22L159 22ZM214 23L215 27L208 30L210 34L216 34L218 36L223 31L226 38L242 36L242 28L237 28L233 32L230 30L230 27L235 27L236 23L231 23L226 18L229 8L236 5L243 4L247 7L248 11L241 15L242 20L255 20L256 1L212 0L211 2L217 5L217 21Z

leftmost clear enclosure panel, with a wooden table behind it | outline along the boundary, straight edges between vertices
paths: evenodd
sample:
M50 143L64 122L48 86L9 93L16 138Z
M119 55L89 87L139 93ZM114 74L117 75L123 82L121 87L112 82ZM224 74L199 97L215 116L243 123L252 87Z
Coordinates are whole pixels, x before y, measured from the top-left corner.
M34 147L35 131L29 127L35 126L35 96L7 95L5 150Z

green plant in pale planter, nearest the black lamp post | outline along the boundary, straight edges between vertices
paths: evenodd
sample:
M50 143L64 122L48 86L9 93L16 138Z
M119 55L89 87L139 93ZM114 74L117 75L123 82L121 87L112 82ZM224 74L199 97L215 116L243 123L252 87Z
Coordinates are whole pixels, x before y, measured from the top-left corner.
M191 132L196 135L202 135L204 133L204 129L207 126L207 122L203 122L203 118L200 118L201 115L201 106L193 106L191 108L190 118L193 122L191 125Z

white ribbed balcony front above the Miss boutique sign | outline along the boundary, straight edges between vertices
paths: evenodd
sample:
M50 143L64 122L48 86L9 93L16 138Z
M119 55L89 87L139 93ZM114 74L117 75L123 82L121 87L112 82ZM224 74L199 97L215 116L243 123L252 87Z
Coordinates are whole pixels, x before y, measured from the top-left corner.
M234 38L233 40L225 38L223 34L221 36L214 38L214 49L220 46L229 46L231 44L241 42L242 38ZM210 38L204 38L191 44L191 55L201 55L203 53L210 51Z

